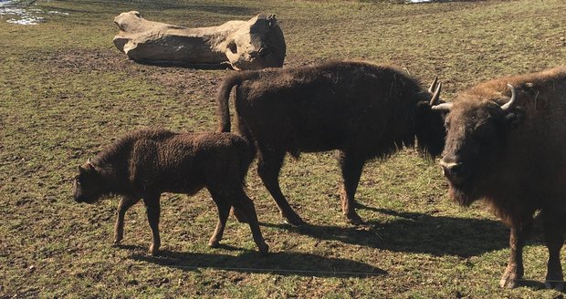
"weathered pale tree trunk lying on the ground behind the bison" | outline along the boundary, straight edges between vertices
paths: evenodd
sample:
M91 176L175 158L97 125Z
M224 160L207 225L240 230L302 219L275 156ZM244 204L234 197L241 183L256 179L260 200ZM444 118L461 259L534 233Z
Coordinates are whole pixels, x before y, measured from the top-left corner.
M121 30L114 45L142 63L258 69L282 67L285 59L285 38L275 15L187 28L148 21L131 11L116 16L114 23Z

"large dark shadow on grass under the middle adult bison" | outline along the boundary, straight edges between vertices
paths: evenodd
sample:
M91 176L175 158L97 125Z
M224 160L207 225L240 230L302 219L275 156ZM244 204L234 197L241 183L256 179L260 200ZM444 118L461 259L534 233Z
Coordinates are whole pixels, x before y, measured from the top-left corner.
M263 223L322 240L335 240L399 253L476 256L508 248L508 228L501 222L469 218L431 216L424 213L359 208L394 216L390 222L366 222L361 227Z

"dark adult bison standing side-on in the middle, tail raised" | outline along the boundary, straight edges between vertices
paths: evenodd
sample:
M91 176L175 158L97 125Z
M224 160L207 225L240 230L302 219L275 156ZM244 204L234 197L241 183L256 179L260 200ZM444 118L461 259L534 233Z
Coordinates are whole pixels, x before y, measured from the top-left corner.
M415 137L432 156L444 148L444 120L431 109L439 102L436 79L427 91L395 67L346 61L235 73L225 77L217 98L223 132L230 131L228 98L235 86L238 131L255 142L257 172L292 224L303 222L279 188L286 152L299 157L340 149L342 211L358 223L354 193L366 160L413 146Z

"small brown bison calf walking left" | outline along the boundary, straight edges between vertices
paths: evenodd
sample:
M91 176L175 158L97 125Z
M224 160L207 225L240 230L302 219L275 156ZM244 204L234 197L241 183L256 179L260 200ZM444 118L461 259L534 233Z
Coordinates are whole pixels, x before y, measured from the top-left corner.
M218 208L218 224L209 245L222 239L230 208L246 218L260 253L268 247L259 230L254 203L243 189L253 152L246 143L226 133L173 133L142 129L117 140L92 161L79 166L74 181L75 201L93 203L101 196L123 196L118 206L115 242L121 242L124 215L143 200L152 228L150 253L159 251L162 192L192 195L204 187Z

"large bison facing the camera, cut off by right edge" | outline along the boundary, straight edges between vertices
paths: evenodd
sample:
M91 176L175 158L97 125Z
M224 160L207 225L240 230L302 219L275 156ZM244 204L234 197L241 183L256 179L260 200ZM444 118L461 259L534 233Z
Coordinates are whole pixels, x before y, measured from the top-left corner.
M434 108L450 111L441 166L451 197L462 205L487 201L511 228L501 286L523 276L525 232L540 211L550 253L546 283L562 289L566 67L488 81Z

